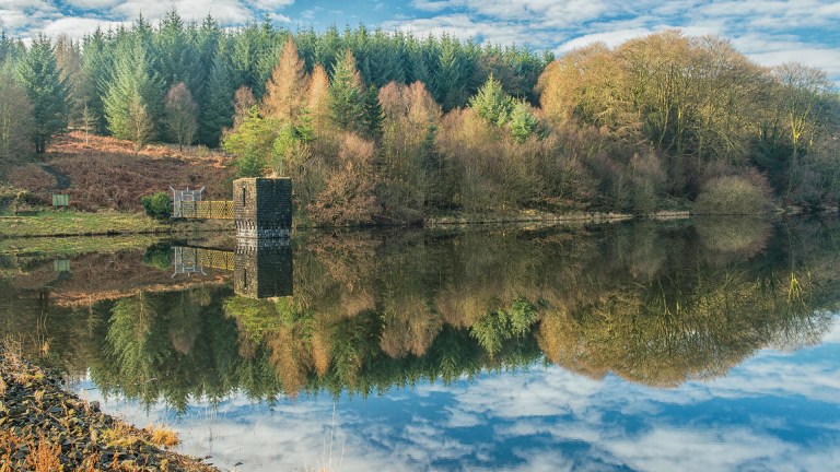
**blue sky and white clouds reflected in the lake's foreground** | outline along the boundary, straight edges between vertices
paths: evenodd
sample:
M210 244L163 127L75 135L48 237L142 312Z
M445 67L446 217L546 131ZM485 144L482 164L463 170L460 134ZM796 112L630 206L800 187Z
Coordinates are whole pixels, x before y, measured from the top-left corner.
M102 400L98 391L86 391ZM175 422L182 450L238 470L832 470L840 468L840 323L824 344L758 352L726 377L653 389L559 367L492 373L384 397L206 400L175 418L112 399L144 425ZM330 448L329 444L332 444Z

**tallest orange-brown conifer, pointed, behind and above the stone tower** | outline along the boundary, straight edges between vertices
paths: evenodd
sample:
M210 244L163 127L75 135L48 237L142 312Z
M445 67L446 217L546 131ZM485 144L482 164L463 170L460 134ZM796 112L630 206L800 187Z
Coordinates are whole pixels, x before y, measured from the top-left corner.
M292 36L288 36L280 62L266 83L262 115L282 122L294 122L306 103L308 78Z

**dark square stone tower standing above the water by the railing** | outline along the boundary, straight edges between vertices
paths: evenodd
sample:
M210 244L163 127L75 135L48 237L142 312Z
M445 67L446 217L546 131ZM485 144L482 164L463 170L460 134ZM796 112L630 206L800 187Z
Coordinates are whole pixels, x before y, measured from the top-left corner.
M288 238L292 227L292 180L234 180L233 214L237 238Z

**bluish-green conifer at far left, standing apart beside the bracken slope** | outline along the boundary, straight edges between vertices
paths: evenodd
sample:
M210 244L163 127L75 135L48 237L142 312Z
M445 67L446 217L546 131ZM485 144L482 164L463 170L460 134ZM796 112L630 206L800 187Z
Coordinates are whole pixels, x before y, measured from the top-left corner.
M46 36L33 40L18 64L18 74L32 104L35 152L44 154L49 140L67 130L69 98L67 81L61 80L52 46Z

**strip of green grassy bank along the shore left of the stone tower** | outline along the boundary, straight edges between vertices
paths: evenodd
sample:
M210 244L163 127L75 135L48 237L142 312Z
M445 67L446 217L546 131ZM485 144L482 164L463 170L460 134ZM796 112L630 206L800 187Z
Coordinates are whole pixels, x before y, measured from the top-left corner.
M26 216L0 216L0 238L172 234L214 231L228 226L231 225L224 224L224 222L160 222L144 214L120 212L42 211Z

